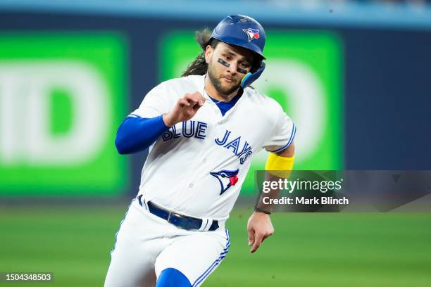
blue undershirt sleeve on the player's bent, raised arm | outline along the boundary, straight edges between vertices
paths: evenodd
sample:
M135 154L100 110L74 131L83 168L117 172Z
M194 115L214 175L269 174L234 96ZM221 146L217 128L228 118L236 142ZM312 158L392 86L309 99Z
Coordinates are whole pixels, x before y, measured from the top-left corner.
M115 147L121 155L137 153L151 146L169 127L163 115L151 118L126 117L115 137Z

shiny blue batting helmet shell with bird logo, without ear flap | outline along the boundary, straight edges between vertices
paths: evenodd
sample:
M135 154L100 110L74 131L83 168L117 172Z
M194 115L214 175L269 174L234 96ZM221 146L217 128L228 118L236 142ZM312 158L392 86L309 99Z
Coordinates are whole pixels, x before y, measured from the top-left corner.
M258 21L246 15L230 15L221 20L211 34L211 39L218 39L226 44L240 46L254 51L263 59L265 30Z

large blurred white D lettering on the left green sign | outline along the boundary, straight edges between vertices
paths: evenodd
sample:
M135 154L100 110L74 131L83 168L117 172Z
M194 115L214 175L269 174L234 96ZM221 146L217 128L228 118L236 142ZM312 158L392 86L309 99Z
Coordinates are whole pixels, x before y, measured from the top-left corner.
M68 91L72 127L53 135L49 93ZM3 165L78 165L106 139L111 105L104 79L92 66L71 60L0 62L0 162Z

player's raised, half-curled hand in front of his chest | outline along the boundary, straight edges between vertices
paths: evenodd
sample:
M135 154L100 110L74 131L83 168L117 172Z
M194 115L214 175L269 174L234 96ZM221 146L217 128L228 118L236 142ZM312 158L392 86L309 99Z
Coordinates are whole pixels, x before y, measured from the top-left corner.
M201 106L204 106L205 98L199 91L195 91L193 94L185 94L184 97L180 98L175 104L173 110L163 115L163 122L168 127L172 127L178 122L184 122L190 120Z

